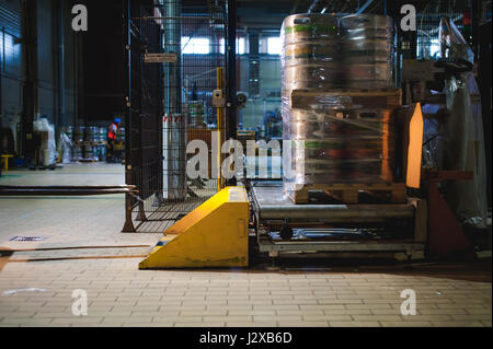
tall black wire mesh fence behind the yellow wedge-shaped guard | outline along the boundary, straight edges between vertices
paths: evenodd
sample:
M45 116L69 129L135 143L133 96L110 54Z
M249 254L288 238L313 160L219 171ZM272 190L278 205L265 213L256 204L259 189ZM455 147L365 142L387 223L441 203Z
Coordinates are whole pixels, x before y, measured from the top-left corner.
M138 195L126 197L124 232L162 232L222 186L211 149L226 137L226 107L213 92L226 88L227 30L225 1L127 3L126 183ZM191 179L194 139L207 144L208 168Z

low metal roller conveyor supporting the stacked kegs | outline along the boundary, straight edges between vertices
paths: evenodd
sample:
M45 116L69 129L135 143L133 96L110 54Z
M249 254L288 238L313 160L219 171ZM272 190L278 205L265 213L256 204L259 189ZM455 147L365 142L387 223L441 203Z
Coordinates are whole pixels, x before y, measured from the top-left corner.
M280 185L276 183L252 183L250 199L252 202L253 225L255 228L259 251L268 253L273 258L280 253L403 253L409 259L423 258L427 241L426 201L417 198L408 203L374 205L295 205L283 196ZM405 231L403 221L411 224ZM351 230L325 226L393 226L386 232L387 237L362 237L351 234ZM314 228L324 239L276 240L271 231L284 226ZM328 231L343 232L343 237L328 239ZM344 237L344 233L347 233ZM378 236L378 235L377 235Z

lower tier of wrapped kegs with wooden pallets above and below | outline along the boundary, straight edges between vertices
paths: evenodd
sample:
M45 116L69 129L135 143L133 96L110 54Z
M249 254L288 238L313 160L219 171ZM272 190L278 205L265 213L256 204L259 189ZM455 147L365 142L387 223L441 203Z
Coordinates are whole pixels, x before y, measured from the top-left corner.
M405 185L394 182L400 89L294 90L289 104L285 128L302 147L302 173L287 190L295 203L405 202Z

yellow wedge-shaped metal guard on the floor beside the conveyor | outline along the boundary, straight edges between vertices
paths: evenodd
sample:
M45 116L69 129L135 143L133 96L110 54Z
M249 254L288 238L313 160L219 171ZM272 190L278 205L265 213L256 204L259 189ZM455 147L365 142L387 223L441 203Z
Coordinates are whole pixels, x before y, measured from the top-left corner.
M170 226L139 269L246 267L249 210L244 187L226 187Z

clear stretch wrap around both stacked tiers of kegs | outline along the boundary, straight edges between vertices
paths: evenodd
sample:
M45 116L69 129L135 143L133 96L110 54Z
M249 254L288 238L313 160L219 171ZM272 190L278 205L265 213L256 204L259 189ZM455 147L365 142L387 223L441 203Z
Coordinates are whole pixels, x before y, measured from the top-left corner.
M290 172L296 175L284 177L285 190L305 184L392 182L393 110L365 108L341 91L393 88L392 30L386 16L295 14L285 19L283 135L293 148L305 147L302 156L293 149ZM296 90L308 92L310 98L295 108ZM297 166L298 161L303 166Z

